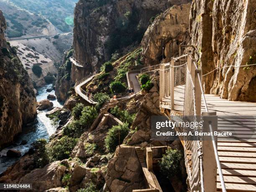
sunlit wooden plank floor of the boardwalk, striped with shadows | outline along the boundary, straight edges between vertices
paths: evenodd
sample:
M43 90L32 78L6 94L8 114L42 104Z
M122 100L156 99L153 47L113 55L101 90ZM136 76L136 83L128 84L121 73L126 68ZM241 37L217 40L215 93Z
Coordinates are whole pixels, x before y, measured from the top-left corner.
M183 112L184 86L174 89L174 109ZM164 99L169 102L170 98ZM235 137L218 138L218 154L227 191L256 192L256 103L228 101L210 94L206 94L205 99L208 110L217 112L218 130L236 130ZM202 111L205 111L203 102ZM221 191L219 177L217 191Z

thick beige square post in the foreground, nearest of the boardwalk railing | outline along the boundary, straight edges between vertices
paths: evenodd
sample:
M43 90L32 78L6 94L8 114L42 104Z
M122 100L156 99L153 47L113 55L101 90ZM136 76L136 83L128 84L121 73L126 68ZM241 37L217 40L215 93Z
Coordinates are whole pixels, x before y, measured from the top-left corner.
M209 122L212 125L212 131L218 131L218 117L216 112L203 112L203 132L210 132ZM217 136L214 137L217 143ZM217 191L217 163L215 160L214 148L211 141L211 136L202 138L202 154L204 168L204 187L207 192Z

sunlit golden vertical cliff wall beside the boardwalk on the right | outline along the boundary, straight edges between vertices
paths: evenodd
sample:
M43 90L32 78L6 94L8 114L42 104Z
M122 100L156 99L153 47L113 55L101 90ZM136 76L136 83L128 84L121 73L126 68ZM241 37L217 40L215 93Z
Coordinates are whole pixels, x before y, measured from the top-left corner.
M189 31L202 74L221 68L203 77L205 92L256 102L256 67L239 67L256 63L255 1L195 0Z

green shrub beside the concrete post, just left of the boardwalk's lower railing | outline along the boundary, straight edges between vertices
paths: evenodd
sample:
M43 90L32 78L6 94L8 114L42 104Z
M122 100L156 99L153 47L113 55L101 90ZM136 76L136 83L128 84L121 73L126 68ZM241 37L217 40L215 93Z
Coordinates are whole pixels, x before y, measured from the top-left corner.
M167 149L159 162L160 172L168 179L176 176L180 172L181 159L182 153L179 150Z

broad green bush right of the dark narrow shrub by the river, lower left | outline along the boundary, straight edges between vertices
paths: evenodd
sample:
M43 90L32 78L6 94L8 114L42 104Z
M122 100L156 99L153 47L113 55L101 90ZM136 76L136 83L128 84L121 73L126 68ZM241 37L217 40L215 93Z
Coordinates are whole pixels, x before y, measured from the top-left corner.
M63 136L56 141L52 141L46 146L49 154L49 160L53 162L68 159L77 142L77 138L70 138L68 136Z

